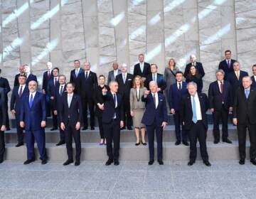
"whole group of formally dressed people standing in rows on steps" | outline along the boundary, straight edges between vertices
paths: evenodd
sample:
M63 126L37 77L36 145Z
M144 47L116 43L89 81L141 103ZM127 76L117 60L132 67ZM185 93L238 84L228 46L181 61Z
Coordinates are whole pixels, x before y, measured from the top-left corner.
M106 165L119 165L120 130L134 127L136 142L149 143L149 165L154 163L154 136L157 142L157 161L163 162L163 129L168 122L167 112L174 115L176 145L190 145L191 166L196 161L196 143L200 143L203 163L210 166L206 147L208 129L207 114L213 112L214 143L220 142L220 120L223 126L222 140L231 144L228 139L228 115L233 112L233 123L238 125L240 163L245 163L246 129L250 133L250 158L256 165L256 137L254 135L256 117L254 86L256 85L256 65L252 67L253 76L240 70L240 63L231 59L231 51L225 51L225 60L220 62L216 80L210 83L208 97L202 93L203 65L190 56L190 63L185 71L176 66L171 58L164 75L158 72L156 64L144 62L144 55L139 54L139 63L134 65L133 75L127 72L123 63L119 69L114 62L108 73L107 84L104 75L90 70L90 63L74 61L75 69L70 72L70 82L65 75L59 74L58 68L47 63L43 73L42 92L37 91L38 82L28 65L19 68L11 95L11 113L16 117L18 144L23 145L23 129L26 131L27 160L24 164L35 161L33 144L36 140L43 164L47 163L46 155L46 117L53 116L53 128L60 129L60 146L66 144L68 160L63 165L73 163L72 137L75 141L75 166L80 165L81 142L80 129L95 129L95 115L100 129L100 145L107 145ZM0 71L1 72L1 71ZM186 80L185 80L186 78ZM11 90L6 78L0 77L1 97L1 146L0 161L4 160L4 131L8 127L7 93ZM167 106L168 105L168 106ZM87 119L90 112L90 122ZM83 125L82 125L83 124ZM141 135L140 135L141 132ZM189 141L189 143L188 143ZM114 146L112 145L114 144Z

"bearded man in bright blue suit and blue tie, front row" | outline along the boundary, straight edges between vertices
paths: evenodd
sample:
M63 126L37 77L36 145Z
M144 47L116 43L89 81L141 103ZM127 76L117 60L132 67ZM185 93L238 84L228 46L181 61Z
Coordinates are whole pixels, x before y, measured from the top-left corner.
M22 98L20 126L25 128L27 157L24 164L35 161L34 143L38 146L38 151L42 164L47 163L46 156L46 99L43 93L36 91L37 82L31 80L28 83L29 92Z

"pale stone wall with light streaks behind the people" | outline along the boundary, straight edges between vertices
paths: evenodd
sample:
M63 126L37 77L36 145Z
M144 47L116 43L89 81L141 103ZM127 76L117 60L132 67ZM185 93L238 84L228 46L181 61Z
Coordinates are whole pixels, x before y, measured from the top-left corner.
M50 60L68 76L73 60L107 75L112 62L133 70L137 55L164 72L169 58L184 69L196 54L204 90L226 49L251 74L256 63L255 0L1 0L0 66L11 87L18 65L41 75Z

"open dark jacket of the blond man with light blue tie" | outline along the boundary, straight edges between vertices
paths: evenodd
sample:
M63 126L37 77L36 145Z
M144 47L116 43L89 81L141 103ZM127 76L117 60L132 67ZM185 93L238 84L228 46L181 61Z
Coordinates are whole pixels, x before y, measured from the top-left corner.
M198 98L201 106L202 122L208 129L206 112L208 110L208 99L206 94L198 92ZM187 94L182 97L181 101L181 122L184 122L184 129L189 130L192 126L193 110L191 104L191 95Z

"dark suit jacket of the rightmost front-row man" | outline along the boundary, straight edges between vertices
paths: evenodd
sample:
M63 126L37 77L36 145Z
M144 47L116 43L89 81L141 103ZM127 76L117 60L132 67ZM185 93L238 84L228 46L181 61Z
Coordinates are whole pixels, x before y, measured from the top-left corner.
M247 119L249 119L250 124L256 124L255 104L256 89L254 87L250 87L250 94L247 99L243 87L236 90L233 103L233 118L238 119L238 125L247 124Z

